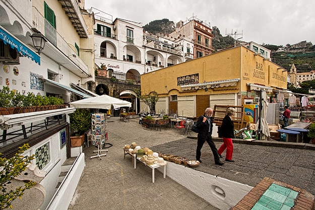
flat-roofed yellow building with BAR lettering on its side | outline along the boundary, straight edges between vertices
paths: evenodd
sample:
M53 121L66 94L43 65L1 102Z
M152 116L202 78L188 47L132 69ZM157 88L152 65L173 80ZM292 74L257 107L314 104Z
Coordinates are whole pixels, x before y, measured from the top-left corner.
M141 75L143 93L157 92L159 96L157 112L177 111L190 118L214 105L258 102L258 90L274 96L286 88L285 69L244 46ZM142 103L141 110L144 107Z

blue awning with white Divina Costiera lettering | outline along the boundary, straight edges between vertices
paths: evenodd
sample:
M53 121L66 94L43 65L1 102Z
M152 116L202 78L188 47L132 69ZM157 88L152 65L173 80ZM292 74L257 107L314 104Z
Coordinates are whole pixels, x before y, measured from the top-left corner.
M12 48L18 50L19 53L30 57L34 60L38 65L40 65L40 57L39 55L31 50L30 48L26 47L22 42L13 36L10 32L0 26L0 39L4 41L5 44L10 44Z

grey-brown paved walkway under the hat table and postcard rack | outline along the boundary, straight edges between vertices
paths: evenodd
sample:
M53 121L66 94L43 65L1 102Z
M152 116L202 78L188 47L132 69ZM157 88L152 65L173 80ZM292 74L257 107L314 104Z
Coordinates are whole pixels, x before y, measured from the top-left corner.
M218 209L169 177L163 179L158 170L152 183L149 167L138 163L134 169L131 156L123 159L122 148L126 144L136 142L152 148L183 138L179 130L176 132L169 127L162 127L162 131L151 130L142 128L138 122L139 117L130 122L119 121L118 117L108 118L106 142L113 146L102 160L90 159L95 155L94 146L84 148L86 166L68 209ZM194 143L192 139L189 141Z

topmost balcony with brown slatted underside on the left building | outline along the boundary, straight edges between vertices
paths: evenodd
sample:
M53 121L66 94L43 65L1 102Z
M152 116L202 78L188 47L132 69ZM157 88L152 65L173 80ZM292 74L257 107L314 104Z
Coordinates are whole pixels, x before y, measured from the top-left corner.
M58 2L60 2L61 7L66 11L66 15L68 15L80 38L88 38L88 27L81 14L77 0L58 0Z

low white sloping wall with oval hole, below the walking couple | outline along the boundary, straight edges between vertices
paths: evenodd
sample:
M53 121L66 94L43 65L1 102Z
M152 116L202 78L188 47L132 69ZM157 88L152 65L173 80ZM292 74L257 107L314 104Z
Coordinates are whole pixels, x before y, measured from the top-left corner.
M163 167L158 168L163 173ZM228 210L254 187L168 162L166 175L211 205Z

